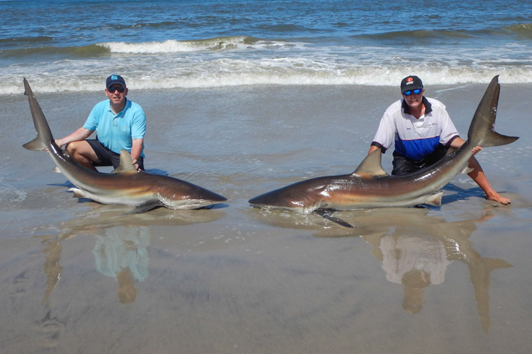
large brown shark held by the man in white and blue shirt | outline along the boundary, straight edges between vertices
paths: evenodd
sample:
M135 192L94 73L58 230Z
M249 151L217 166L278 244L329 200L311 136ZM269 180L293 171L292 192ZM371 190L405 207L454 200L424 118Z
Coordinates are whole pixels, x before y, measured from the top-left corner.
M494 131L499 89L499 76L495 76L473 116L467 132L467 142L426 169L406 176L389 176L382 169L381 151L377 149L353 173L311 178L259 195L249 202L266 210L289 210L303 214L318 212L330 219L331 210L411 207L421 204L439 206L443 193L438 190L465 169L473 147L495 147L519 139Z

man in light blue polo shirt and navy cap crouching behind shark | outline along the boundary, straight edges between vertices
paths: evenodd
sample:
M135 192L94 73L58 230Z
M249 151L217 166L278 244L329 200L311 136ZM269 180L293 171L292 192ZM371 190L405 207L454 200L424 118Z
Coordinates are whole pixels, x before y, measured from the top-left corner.
M106 80L105 94L109 100L97 103L89 118L78 130L55 143L67 151L74 161L96 171L96 166L120 164L120 151L131 154L133 164L144 171L144 135L146 115L137 103L129 101L126 81L120 75ZM87 139L96 130L96 139ZM86 140L87 139L87 140Z

